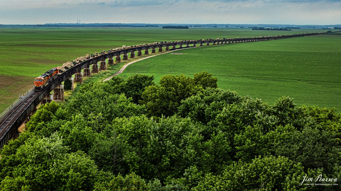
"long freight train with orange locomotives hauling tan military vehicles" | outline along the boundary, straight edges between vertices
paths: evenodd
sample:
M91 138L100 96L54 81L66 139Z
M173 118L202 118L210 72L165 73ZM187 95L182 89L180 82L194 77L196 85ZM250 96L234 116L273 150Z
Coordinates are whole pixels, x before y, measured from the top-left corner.
M133 49L136 47L144 47L144 46L152 46L152 45L165 45L165 44L171 44L171 43L181 43L181 42L197 42L197 44L199 43L204 43L206 41L211 41L211 40L217 40L217 41L241 41L241 40L252 40L252 39L259 39L259 38L280 38L280 37L295 37L295 36L302 36L302 35L317 35L317 34L322 34L322 33L304 33L304 34L294 34L294 35L280 35L280 36L260 36L260 37L244 37L244 38L217 38L217 39L212 39L212 38L207 38L207 39L199 39L199 40L181 40L181 41L162 41L162 42L154 42L151 44L140 44L140 45L134 45L134 46L122 46L119 48L115 48L115 49L110 49L108 51L103 50L100 53L95 52L94 54L87 54L85 56L81 56L78 57L76 59L74 59L72 62L67 62L64 63L62 66L58 66L56 68L50 69L47 72L45 72L44 74L42 74L39 77L36 77L34 80L34 89L35 90L42 90L44 89L44 87L50 83L51 81L53 81L54 79L57 78L57 76L61 73L63 73L65 70L68 70L70 68L72 68L73 66L76 66L77 64L80 64L88 59L97 57L99 55L103 55L103 54L107 54L107 53L112 53L115 51L121 51L121 50L129 50L129 49Z

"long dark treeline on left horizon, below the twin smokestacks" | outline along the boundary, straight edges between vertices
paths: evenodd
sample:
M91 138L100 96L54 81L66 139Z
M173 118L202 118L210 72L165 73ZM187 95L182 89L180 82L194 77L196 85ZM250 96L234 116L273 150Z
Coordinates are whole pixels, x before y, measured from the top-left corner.
M0 27L159 27L158 25L127 24L0 24Z

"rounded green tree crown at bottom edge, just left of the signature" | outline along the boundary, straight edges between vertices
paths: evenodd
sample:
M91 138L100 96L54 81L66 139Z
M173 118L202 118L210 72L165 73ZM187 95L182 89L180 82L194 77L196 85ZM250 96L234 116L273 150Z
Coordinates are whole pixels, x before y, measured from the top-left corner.
M257 157L250 163L236 162L222 175L206 176L193 191L287 190L303 191L299 186L306 173L300 163L285 157Z

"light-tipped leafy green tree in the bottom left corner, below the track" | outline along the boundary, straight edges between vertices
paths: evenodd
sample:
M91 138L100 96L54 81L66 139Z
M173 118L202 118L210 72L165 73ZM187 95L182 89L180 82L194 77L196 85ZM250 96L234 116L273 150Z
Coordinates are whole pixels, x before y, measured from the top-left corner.
M30 138L16 152L19 164L1 190L91 190L97 167L82 152L68 153L57 134Z

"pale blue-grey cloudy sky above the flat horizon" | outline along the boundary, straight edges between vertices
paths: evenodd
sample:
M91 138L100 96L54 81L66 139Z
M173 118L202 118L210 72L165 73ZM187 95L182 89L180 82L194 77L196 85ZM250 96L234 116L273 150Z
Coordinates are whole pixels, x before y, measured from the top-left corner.
M341 0L0 0L0 24L341 24Z

